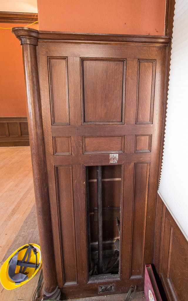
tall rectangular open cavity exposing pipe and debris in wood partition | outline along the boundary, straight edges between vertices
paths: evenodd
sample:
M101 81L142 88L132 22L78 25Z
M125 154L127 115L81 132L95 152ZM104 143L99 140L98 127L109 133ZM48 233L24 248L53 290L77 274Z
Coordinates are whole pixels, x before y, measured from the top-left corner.
M85 166L89 280L120 277L123 165Z

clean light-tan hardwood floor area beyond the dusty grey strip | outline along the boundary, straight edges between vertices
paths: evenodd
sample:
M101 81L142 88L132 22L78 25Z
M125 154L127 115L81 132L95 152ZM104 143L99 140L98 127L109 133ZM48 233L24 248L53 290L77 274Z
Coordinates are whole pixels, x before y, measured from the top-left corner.
M34 203L30 147L0 147L0 261Z

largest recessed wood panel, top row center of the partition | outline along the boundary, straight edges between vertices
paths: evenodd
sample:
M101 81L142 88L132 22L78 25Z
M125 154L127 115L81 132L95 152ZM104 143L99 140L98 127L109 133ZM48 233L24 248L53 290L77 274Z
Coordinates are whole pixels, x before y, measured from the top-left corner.
M82 59L82 122L123 123L125 60Z

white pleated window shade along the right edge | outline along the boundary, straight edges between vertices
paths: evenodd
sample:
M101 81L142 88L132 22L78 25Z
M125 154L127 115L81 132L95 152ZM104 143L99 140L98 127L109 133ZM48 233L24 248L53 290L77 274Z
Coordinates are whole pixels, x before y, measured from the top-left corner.
M176 0L159 194L188 240L188 1Z

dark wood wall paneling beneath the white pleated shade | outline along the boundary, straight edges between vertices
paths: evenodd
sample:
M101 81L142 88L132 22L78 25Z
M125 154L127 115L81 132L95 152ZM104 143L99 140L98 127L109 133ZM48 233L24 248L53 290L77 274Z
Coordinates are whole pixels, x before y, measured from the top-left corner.
M159 195L154 263L167 300L188 300L188 241Z

